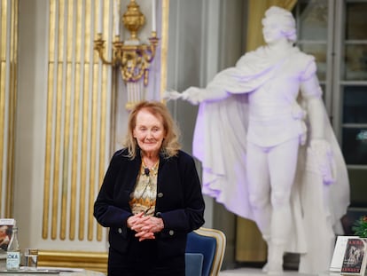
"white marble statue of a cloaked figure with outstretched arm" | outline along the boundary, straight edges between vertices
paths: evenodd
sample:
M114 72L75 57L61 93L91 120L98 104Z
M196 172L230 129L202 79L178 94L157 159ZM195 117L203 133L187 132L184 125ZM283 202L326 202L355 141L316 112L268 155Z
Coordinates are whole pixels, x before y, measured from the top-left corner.
M300 272L328 270L336 227L347 211L347 169L324 109L316 62L293 43L291 12L262 20L266 46L215 75L205 89L168 91L199 104L193 154L203 192L253 219L268 244L263 271L283 272L285 252Z

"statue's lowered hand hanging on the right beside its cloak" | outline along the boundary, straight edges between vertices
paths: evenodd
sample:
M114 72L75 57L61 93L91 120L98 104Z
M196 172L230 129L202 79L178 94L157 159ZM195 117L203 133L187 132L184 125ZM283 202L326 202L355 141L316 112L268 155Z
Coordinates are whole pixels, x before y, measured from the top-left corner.
M324 184L335 182L335 162L329 143L324 139L311 139L309 150L316 157L316 165L323 177Z

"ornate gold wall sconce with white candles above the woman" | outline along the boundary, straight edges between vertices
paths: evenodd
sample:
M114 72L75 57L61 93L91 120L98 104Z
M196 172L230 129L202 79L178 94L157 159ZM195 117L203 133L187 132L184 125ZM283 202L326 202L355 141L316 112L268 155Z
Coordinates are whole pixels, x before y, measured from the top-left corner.
M102 0L99 0L100 4ZM105 65L119 68L121 77L126 83L128 102L126 108L130 110L137 102L145 99L144 86L149 82L149 71L155 57L159 43L156 29L156 0L152 1L152 34L148 38L149 43L143 43L138 37L138 32L145 25L145 15L140 10L136 0L129 0L127 10L121 15L121 0L114 0L113 6L114 37L112 43L112 59L105 58L105 40L98 23L97 39L94 41L94 49ZM101 15L101 14L100 14ZM98 19L98 22L103 17ZM129 30L129 38L121 40L120 22Z

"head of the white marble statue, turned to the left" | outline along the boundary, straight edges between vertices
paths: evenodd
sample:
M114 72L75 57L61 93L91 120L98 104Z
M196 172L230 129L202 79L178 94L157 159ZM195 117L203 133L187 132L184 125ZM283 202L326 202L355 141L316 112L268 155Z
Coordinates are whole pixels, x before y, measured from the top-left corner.
M270 32L277 32L279 36L286 37L289 41L297 40L295 20L292 12L277 6L271 6L262 19L263 35L265 41Z

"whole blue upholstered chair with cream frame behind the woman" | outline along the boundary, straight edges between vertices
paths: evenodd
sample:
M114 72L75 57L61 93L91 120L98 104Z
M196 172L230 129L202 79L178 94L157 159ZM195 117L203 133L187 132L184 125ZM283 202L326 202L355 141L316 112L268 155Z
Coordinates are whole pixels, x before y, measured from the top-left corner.
M222 231L201 227L188 234L186 276L216 276L223 263L225 235Z

